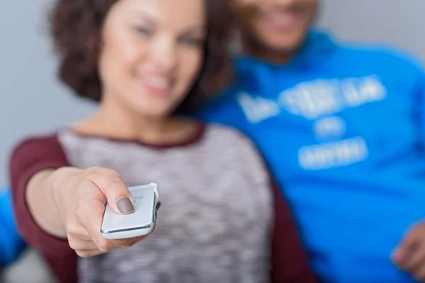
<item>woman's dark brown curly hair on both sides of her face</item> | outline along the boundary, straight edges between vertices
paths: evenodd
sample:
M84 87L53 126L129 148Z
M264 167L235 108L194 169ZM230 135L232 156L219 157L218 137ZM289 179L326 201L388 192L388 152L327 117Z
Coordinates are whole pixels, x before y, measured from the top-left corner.
M60 55L59 77L78 96L101 100L98 58L108 11L120 0L57 0L50 15L55 50ZM203 69L180 109L198 104L232 79L229 30L232 16L227 0L204 0L208 14ZM187 109L188 110L188 109Z

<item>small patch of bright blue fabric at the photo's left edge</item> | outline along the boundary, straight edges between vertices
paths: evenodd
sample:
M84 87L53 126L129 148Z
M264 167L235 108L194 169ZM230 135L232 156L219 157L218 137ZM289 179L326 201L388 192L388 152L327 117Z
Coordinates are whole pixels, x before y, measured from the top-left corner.
M24 247L13 218L11 191L0 189L0 267L16 260Z

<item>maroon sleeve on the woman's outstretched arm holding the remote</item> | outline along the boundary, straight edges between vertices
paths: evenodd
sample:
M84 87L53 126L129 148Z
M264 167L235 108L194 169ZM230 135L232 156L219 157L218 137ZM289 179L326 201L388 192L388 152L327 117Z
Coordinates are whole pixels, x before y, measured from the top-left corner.
M40 250L60 282L77 282L77 255L68 241L45 232L33 219L26 202L26 186L35 173L69 166L57 137L28 139L11 156L10 175L16 224L30 246Z

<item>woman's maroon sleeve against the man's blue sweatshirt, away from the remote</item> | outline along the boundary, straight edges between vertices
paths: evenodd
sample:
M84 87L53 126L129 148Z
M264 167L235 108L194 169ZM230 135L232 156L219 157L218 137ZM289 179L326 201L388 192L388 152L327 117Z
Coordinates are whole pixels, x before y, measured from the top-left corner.
M272 239L272 282L317 282L307 262L305 250L298 235L288 204L273 182L275 221Z

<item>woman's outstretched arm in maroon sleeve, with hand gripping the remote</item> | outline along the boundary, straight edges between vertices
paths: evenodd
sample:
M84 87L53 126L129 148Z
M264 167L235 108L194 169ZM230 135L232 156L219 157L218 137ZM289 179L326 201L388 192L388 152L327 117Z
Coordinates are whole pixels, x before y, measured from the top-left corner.
M11 180L18 227L45 253L63 256L70 247L80 256L92 256L145 238L107 240L101 235L107 203L116 213L134 212L128 187L111 169L70 167L56 137L18 146Z

